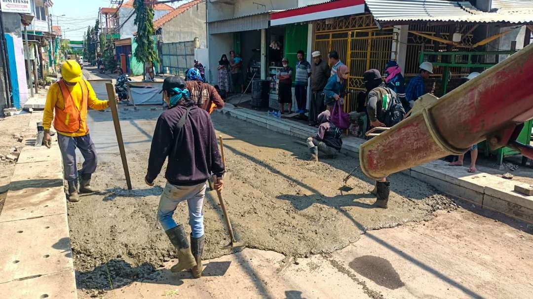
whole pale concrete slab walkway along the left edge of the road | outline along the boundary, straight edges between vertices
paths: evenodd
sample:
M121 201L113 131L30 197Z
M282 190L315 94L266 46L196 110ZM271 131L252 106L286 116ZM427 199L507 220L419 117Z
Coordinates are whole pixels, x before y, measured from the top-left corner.
M35 130L42 114L33 114ZM0 215L0 294L6 298L77 298L61 155L22 149Z

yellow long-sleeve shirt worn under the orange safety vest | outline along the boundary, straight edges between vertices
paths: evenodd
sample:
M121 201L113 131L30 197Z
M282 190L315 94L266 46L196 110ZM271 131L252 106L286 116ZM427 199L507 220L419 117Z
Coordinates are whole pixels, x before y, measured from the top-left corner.
M108 101L101 101L96 98L93 87L85 80L89 94L87 96L87 106L94 110L104 110L109 107ZM82 86L78 83L74 86L67 85L67 88L70 91L72 99L74 99L74 104L76 108L79 109L80 104L82 103ZM63 110L65 107L65 101L63 99L63 94L61 93L61 88L56 82L50 86L48 94L46 95L46 104L44 106L43 114L43 127L45 130L50 130L52 126L52 120L54 118L54 107L57 106L59 109ZM85 136L89 133L87 128L87 116L82 115L82 123L79 127L79 131L75 133L64 133L58 132L59 134L71 137Z

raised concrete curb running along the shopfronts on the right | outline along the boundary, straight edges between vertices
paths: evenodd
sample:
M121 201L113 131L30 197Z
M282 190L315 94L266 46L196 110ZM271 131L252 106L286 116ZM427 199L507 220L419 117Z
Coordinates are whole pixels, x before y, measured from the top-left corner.
M295 138L306 139L316 134L315 128L291 120L269 117L265 112L235 108L228 103L222 110L217 111ZM344 138L343 151L359 154L359 147L364 142L365 140L354 137ZM505 180L482 172L470 174L462 167L449 167L442 160L406 169L402 173L428 183L443 193L471 201L482 208L533 222L533 196L524 196L514 191L514 185L528 187L526 183Z

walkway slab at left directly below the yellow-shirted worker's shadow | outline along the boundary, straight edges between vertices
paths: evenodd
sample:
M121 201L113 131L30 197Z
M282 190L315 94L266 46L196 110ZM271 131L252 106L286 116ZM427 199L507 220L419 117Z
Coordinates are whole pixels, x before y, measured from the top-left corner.
M57 187L27 187L11 190L7 192L0 222L66 214L66 200L60 180Z

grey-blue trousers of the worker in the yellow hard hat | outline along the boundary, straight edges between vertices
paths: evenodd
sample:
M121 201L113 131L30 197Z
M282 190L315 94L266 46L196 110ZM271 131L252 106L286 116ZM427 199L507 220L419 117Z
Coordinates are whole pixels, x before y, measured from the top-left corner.
M58 133L59 150L63 158L63 173L67 181L74 181L78 177L76 166L76 148L82 152L83 165L80 174L92 174L96 171L98 158L96 148L89 134L79 137L70 137Z

